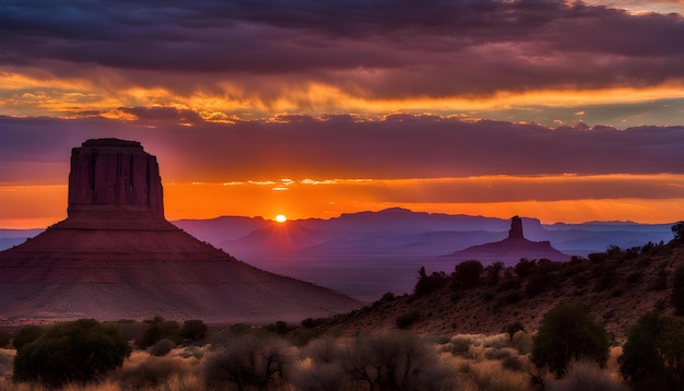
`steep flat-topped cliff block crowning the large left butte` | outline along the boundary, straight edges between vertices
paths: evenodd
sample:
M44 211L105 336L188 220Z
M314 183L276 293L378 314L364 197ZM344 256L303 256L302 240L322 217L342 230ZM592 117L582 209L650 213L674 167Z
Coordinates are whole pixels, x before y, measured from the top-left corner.
M164 218L160 166L139 142L89 140L71 151L69 216L106 209L149 211Z

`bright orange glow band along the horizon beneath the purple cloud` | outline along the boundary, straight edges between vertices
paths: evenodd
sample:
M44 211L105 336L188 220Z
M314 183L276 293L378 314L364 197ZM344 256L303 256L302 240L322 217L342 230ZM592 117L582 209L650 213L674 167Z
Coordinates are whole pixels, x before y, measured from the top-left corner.
M598 188L603 198L573 189ZM601 188L603 187L603 189ZM659 189L662 199L606 197L636 188ZM518 189L518 190L516 190ZM633 221L669 224L684 220L684 176L484 176L429 179L329 179L164 183L170 221L223 215L276 221L332 218L343 213L404 208L414 212L539 218L542 223ZM451 193L452 192L452 193ZM67 217L66 185L0 187L2 228L42 228ZM443 196L435 196L435 194ZM529 196L529 197L528 197ZM536 199L531 197L536 196ZM575 198L569 198L574 196ZM273 217L270 217L273 216Z

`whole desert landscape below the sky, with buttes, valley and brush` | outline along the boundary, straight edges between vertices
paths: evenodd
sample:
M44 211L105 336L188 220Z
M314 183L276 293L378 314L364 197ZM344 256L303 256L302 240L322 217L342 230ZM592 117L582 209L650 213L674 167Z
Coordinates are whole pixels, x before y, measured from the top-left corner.
M684 311L684 223L543 226L391 209L180 229L164 218L158 171L138 142L73 149L69 217L0 252L0 343L16 349L0 351L2 376L13 367L3 389L676 384L672 365L632 366L644 339L684 335L682 318L667 315ZM624 247L592 251L617 238ZM662 329L674 334L638 332L648 317L674 322ZM97 335L110 336L87 345ZM570 347L558 355L558 343ZM52 362L107 349L119 358L87 370Z

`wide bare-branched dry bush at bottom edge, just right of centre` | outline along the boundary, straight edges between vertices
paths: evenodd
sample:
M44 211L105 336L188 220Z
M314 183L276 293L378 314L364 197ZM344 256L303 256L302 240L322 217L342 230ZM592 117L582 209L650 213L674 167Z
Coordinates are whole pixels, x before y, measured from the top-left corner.
M433 390L451 377L427 342L399 330L357 339L345 368L352 380L370 390Z

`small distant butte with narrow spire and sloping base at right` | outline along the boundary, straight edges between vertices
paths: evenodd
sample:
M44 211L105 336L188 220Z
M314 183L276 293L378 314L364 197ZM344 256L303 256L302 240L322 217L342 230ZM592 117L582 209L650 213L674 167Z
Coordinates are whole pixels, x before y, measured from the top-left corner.
M532 241L524 238L522 220L514 216L510 221L508 237L500 241L472 246L447 256L455 260L475 259L483 263L504 262L506 265L516 264L521 258L549 259L552 261L567 261L569 256L556 250L547 240Z

